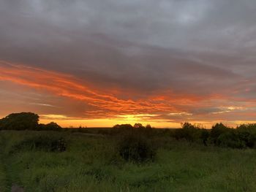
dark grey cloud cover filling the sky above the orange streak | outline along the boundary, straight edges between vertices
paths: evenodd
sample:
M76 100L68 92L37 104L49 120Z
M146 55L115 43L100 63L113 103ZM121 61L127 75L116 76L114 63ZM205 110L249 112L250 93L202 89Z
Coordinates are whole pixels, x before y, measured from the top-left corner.
M0 59L73 74L124 98L252 98L255 9L253 0L2 0Z

